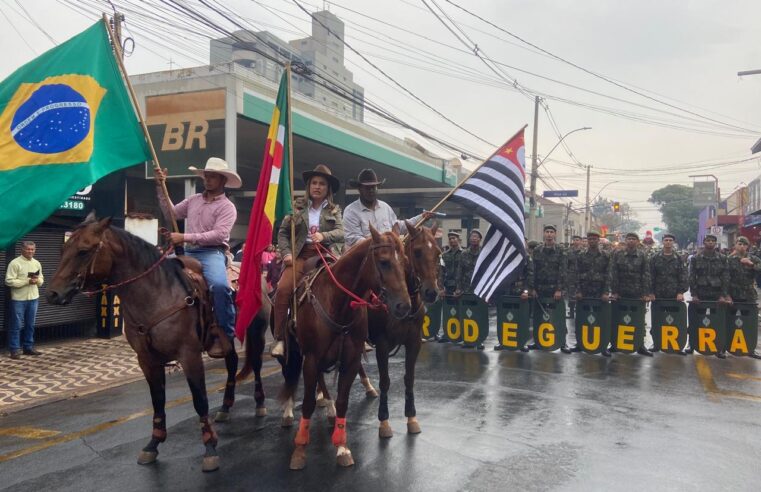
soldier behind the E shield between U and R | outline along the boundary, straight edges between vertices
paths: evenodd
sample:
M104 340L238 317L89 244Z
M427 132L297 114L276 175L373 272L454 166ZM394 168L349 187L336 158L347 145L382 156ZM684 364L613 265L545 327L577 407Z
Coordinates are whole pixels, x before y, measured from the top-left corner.
M630 232L626 234L624 248L613 253L610 287L614 300L640 299L647 303L651 299L650 266L645 253L637 248L638 245L639 236ZM644 337L642 340L636 340L635 343L639 345L638 354L653 356L653 353L645 347Z

